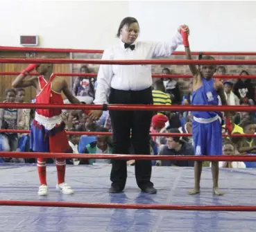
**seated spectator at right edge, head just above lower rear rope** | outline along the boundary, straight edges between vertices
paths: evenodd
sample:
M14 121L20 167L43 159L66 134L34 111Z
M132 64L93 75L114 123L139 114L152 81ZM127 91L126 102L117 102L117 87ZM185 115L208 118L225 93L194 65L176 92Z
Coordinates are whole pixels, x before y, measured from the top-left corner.
M245 134L255 134L255 124L252 121L244 121L241 124ZM256 154L255 137L244 137L238 145L238 151L241 154Z

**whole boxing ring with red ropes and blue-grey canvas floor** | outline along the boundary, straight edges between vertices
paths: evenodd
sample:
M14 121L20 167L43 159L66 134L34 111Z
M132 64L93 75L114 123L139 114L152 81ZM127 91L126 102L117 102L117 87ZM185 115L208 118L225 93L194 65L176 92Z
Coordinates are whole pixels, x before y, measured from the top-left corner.
M94 52L77 49L11 48L6 51L56 51ZM50 50L47 50L50 49ZM101 53L102 51L96 51ZM184 53L178 53L184 54ZM205 55L216 55L205 53ZM221 54L221 53L218 53ZM226 53L225 53L226 54ZM230 53L228 53L230 54ZM233 54L233 53L232 53ZM241 53L234 53L241 55ZM256 55L255 53L243 53ZM0 63L78 63L78 64L256 64L256 60L139 60L103 61L69 59L7 59ZM0 75L17 75L1 72ZM32 74L32 73L31 73ZM36 73L33 73L36 74ZM62 76L95 76L95 73L56 73ZM191 78L191 75L174 75L176 78ZM173 75L153 75L171 78ZM239 78L239 75L219 75L218 78ZM248 75L246 78L256 78ZM0 108L10 109L108 109L108 110L175 110L175 111L256 111L255 106L149 106L144 105L44 105L33 103L0 103ZM0 130L0 132L29 133L24 130ZM111 134L110 132L67 132L67 134ZM171 133L151 135L180 136ZM191 136L191 134L182 134ZM223 136L226 136L223 134ZM234 134L232 136L256 136ZM1 157L48 157L84 158L83 154L45 154L40 152L0 152ZM87 154L88 159L151 159L194 161L256 161L253 156L151 156L121 154ZM194 187L194 168L153 166L152 181L156 195L142 193L135 181L135 170L128 166L128 178L123 193L108 193L111 166L69 166L66 180L75 191L63 195L55 190L56 166L47 164L49 195L37 196L38 177L36 164L1 163L0 165L0 231L255 231L256 170L220 168L219 184L223 196L212 194L212 172L203 168L200 195L188 195ZM239 212L239 213L238 213Z

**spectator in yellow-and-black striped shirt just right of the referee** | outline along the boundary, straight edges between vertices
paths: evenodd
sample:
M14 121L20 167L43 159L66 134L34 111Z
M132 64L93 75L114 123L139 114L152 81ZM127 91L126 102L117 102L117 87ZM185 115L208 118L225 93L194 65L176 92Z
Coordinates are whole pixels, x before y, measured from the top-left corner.
M154 82L152 95L154 105L171 105L171 98L165 93L164 82L162 80L156 80ZM158 111L157 114L167 114L167 112Z

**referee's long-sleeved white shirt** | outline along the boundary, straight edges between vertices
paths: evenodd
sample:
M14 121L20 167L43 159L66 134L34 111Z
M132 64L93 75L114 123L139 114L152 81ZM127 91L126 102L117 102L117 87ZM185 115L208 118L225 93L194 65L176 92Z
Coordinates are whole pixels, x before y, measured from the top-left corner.
M151 60L153 58L169 57L182 44L179 32L169 42L135 42L135 49L124 48L120 42L107 48L102 60ZM105 104L110 87L119 90L138 91L151 87L151 65L119 65L101 64L97 77L97 88L94 103Z

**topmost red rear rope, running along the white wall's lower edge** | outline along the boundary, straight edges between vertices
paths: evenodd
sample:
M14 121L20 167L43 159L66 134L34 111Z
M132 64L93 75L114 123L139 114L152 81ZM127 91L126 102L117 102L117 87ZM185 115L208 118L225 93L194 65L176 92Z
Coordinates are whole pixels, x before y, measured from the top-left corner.
M92 49L74 49L74 48L35 48L35 47L17 47L0 46L0 51L26 51L26 52L47 52L47 53L103 53L103 50ZM191 55L256 55L255 52L222 52L222 51L194 51ZM172 55L185 55L184 51L174 51Z

